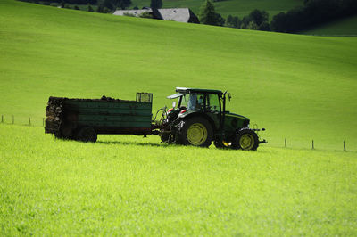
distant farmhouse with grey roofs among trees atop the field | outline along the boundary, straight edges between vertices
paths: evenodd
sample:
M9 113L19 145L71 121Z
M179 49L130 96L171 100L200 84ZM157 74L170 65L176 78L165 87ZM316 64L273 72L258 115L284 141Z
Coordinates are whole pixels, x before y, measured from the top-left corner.
M145 8L141 10L117 10L113 14L117 16L136 16L140 17L143 13L149 13L154 19L159 20L174 20L186 23L200 23L195 13L188 8Z

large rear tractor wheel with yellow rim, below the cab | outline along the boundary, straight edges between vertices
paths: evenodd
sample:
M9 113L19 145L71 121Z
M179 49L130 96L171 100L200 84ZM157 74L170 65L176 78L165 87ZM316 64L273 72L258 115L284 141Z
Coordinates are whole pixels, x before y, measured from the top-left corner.
M213 129L210 122L202 117L193 117L181 121L179 143L209 147L213 139Z

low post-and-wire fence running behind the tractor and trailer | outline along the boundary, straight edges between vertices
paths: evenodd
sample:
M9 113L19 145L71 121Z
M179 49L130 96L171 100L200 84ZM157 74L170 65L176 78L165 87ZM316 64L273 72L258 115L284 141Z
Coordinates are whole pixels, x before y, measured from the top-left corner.
M1 115L1 124L7 125L20 125L20 126L29 126L29 127L45 127L46 126L46 118L31 118L31 117L15 117L14 115L5 116ZM337 144L325 144L321 145L321 142L315 139L311 139L310 142L304 141L298 144L293 144L294 139L284 138L283 143L278 143L278 141L274 141L273 143L264 144L265 146L276 147L276 148L286 148L286 149L311 149L311 150L319 150L319 151L354 151L349 148L347 150L347 143L345 140L341 141L341 143ZM320 143L320 146L316 146L316 142ZM309 145L310 143L310 145ZM327 149L326 147L333 147L333 149ZM353 146L350 146L353 147Z

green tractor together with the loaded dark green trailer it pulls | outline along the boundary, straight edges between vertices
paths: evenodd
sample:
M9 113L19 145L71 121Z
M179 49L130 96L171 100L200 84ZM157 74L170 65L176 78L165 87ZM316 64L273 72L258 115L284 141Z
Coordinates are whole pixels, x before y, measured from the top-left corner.
M226 111L230 94L219 90L177 87L170 110L152 120L153 94L137 93L136 101L50 97L45 132L59 138L95 142L98 134L160 135L162 142L256 150L260 143L249 119Z

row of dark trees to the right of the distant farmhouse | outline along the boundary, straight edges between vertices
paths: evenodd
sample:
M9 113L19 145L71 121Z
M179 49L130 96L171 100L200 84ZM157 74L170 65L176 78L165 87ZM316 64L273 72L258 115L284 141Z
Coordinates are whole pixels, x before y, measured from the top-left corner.
M286 13L278 13L271 23L269 23L269 13L257 9L243 19L229 15L224 20L220 13L215 12L211 0L206 0L201 8L199 19L203 24L214 26L294 33L353 14L357 14L356 0L304 0L303 6Z

